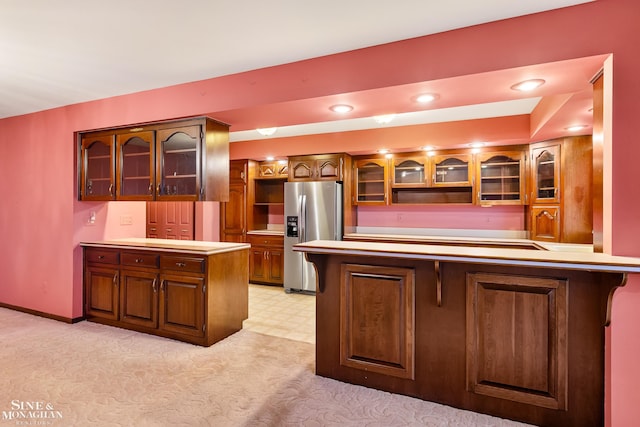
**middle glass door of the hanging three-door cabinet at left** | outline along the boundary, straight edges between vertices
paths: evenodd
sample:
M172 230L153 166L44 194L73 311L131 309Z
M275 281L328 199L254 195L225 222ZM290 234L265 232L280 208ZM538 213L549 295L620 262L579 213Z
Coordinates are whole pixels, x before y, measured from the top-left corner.
M117 136L118 200L153 200L155 153L153 131Z

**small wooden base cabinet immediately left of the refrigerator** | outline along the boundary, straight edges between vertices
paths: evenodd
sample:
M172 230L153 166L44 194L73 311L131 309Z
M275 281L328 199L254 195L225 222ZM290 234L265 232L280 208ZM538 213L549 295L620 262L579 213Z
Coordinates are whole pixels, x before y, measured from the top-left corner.
M284 237L249 235L249 281L282 286L284 280Z

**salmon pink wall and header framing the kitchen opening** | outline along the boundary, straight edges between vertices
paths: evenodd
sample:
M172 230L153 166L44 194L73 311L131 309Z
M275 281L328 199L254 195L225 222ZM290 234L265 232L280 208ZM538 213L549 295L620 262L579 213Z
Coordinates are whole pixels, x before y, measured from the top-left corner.
M0 302L72 318L82 315L78 243L119 234L111 204L76 201L78 130L226 111L272 102L613 54L610 252L640 256L637 0L582 5L263 70L0 120ZM300 78L304 76L304 78ZM123 76L126 78L126 76ZM325 151L324 138L314 152ZM371 141L367 148L376 148ZM260 144L263 144L261 141ZM246 148L243 144L239 147ZM254 145L255 154L263 153ZM321 149L320 149L321 148ZM348 144L340 150L349 149ZM252 149L246 151L253 157ZM87 206L99 212L86 226ZM106 207L105 207L106 206ZM118 205L120 206L120 205ZM126 206L125 206L125 209ZM133 209L132 209L133 210ZM136 209L137 212L137 209ZM119 215L116 214L116 215ZM137 215L137 214L135 214ZM137 218L137 216L136 216ZM137 219L134 219L136 222ZM116 226L117 228L118 226ZM136 227L133 227L136 228ZM133 230L132 228L132 230ZM606 228L605 228L606 229ZM134 231L132 231L134 233ZM607 330L607 425L640 419L640 278L616 292Z

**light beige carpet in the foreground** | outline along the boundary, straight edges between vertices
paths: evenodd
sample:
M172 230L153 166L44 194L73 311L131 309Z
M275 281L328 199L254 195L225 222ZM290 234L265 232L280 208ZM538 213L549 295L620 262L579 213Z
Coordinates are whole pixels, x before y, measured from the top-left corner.
M204 348L0 308L0 340L0 426L38 404L52 426L524 425L318 377L313 344L247 330Z

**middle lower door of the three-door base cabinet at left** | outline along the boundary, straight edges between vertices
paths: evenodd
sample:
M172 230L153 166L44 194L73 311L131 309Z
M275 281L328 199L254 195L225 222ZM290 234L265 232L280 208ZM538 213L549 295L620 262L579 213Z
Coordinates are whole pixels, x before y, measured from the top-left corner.
M158 327L158 274L122 270L121 319L133 325Z

